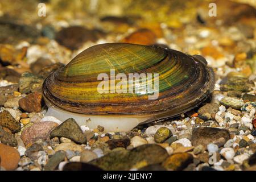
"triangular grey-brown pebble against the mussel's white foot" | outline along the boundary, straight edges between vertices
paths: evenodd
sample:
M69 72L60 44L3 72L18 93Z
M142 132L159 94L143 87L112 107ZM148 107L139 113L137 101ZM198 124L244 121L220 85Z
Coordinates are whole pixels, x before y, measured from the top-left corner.
M86 143L86 137L75 119L69 118L58 127L52 130L51 138L65 137L73 140L76 143Z

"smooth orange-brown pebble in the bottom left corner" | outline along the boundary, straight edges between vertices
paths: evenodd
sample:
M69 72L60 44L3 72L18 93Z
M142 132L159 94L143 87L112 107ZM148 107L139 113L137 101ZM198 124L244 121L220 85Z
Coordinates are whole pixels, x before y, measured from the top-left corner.
M18 167L20 155L13 147L0 143L1 167L6 170L14 170Z

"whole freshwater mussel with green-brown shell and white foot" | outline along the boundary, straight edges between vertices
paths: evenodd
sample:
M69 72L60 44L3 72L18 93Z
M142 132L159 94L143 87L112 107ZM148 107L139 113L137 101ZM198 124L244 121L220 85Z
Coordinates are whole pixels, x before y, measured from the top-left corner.
M136 73L139 81L129 80ZM74 118L92 129L101 125L105 131L128 131L139 123L175 117L199 106L213 87L213 71L199 55L107 43L85 49L49 75L43 96L47 114L61 121Z

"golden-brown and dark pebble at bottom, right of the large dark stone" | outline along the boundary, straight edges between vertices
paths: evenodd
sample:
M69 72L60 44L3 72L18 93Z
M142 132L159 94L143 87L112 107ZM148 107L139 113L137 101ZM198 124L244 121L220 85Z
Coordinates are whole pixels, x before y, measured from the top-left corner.
M179 171L193 163L193 156L188 153L172 154L164 162L163 167L168 170Z

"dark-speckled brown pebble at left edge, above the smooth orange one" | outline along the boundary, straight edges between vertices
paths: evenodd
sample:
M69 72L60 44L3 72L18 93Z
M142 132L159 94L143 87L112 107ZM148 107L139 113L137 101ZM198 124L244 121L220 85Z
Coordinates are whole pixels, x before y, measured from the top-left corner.
M7 127L12 133L17 133L21 129L20 123L8 111L2 111L0 113L0 126Z

